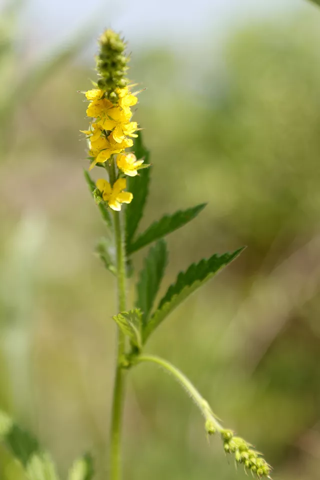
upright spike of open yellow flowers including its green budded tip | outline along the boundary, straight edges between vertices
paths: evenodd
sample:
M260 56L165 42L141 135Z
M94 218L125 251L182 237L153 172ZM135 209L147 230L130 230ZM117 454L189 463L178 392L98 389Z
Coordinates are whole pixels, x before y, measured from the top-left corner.
M114 178L111 184L105 179L97 181L96 196L107 201L113 210L120 210L121 203L130 203L132 193L122 191L126 181L119 176L137 175L143 163L143 159L137 160L132 152L125 152L133 145L132 137L137 136L138 125L131 120L131 107L137 102L138 92L131 92L133 85L127 85L124 75L128 58L123 54L125 43L119 35L106 30L99 44L96 67L99 79L94 88L84 92L89 100L86 114L91 118L90 125L88 130L81 131L88 140L89 170L96 164L104 164L106 169L113 168L113 171L117 166L118 178Z

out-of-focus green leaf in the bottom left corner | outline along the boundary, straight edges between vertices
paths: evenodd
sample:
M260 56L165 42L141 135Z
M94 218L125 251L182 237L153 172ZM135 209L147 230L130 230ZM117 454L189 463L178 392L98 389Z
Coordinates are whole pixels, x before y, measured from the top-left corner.
M0 441L22 464L28 480L58 480L50 455L3 411L0 411Z

